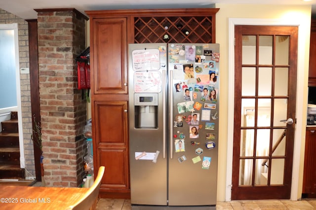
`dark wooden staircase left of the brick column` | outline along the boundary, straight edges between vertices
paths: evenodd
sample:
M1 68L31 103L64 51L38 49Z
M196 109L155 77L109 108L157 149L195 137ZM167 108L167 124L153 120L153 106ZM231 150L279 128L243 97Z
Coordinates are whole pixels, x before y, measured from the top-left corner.
M11 119L1 122L0 132L0 179L24 179L20 168L19 129L17 112Z

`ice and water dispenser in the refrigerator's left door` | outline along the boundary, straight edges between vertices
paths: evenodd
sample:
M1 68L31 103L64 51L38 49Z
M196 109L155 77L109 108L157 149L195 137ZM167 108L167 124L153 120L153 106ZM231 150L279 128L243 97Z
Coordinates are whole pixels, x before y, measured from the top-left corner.
M135 93L135 128L158 127L158 93Z

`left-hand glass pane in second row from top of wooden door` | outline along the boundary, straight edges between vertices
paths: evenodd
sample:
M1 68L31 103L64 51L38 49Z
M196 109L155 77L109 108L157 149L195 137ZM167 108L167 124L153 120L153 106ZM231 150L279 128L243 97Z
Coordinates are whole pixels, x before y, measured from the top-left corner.
M253 96L256 92L256 68L254 67L243 67L242 68L242 84L241 84L241 95Z

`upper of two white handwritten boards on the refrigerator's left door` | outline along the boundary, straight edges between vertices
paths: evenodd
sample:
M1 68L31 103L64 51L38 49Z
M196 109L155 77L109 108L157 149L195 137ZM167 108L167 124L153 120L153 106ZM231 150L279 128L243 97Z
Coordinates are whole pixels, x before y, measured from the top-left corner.
M134 71L155 71L160 69L158 49L134 50L132 52Z

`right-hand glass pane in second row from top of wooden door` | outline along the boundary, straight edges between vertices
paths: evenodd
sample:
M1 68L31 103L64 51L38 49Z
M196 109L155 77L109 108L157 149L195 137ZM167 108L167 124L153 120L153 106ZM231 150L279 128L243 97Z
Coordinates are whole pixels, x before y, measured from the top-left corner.
M287 95L288 68L276 68L275 95Z

